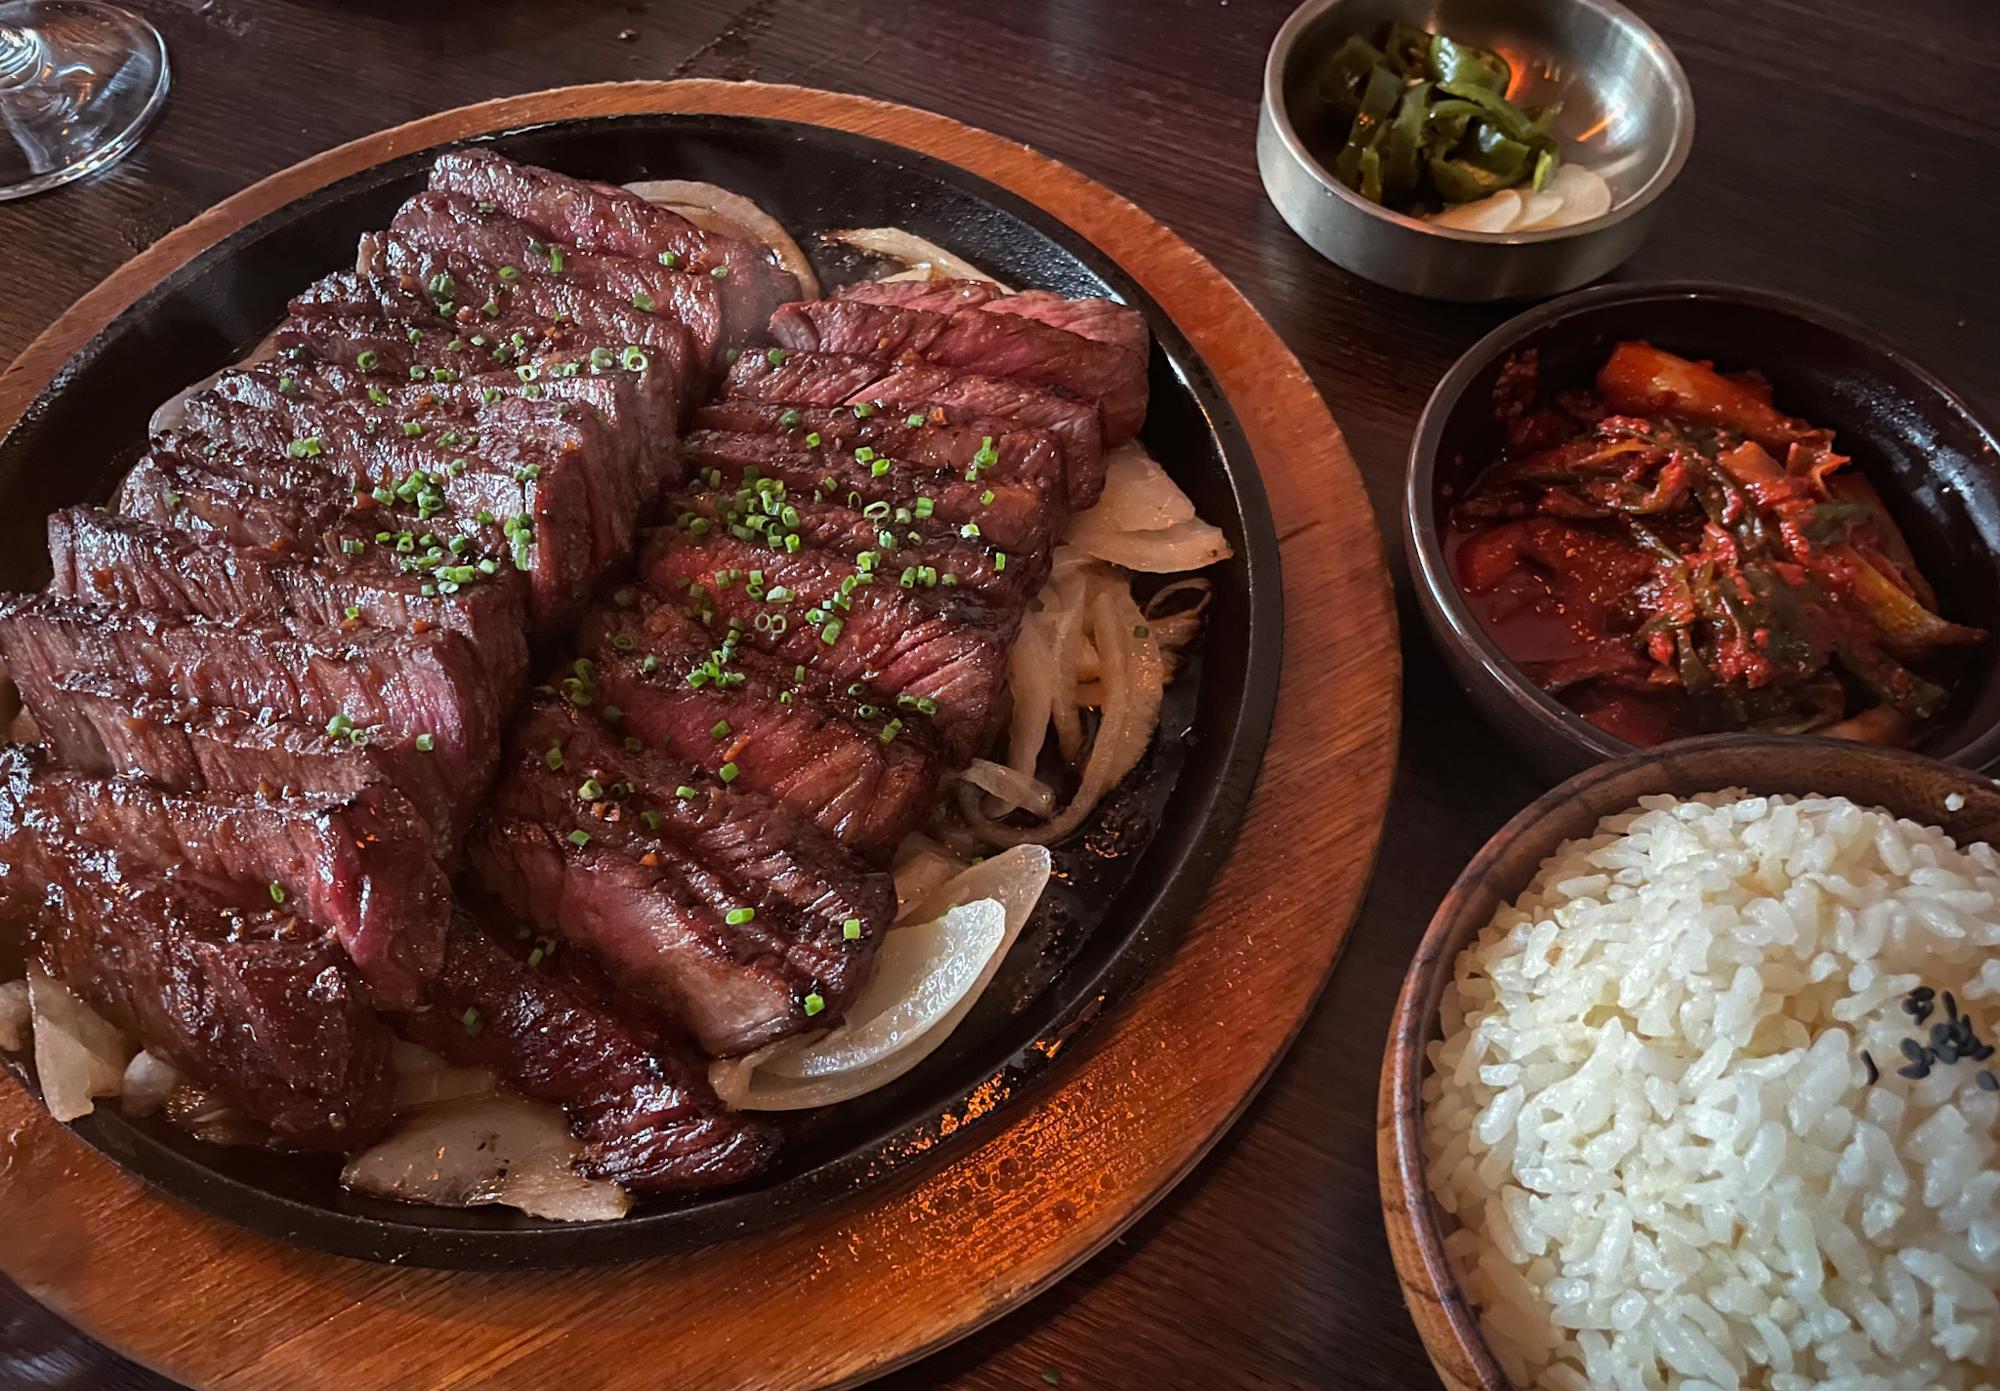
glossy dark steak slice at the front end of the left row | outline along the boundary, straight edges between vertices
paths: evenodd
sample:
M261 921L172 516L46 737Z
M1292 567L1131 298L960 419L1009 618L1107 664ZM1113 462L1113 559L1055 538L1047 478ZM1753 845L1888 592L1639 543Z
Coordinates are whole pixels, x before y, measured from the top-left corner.
M280 1145L354 1149L388 1125L392 1037L324 931L58 833L16 867L44 885L42 967Z

